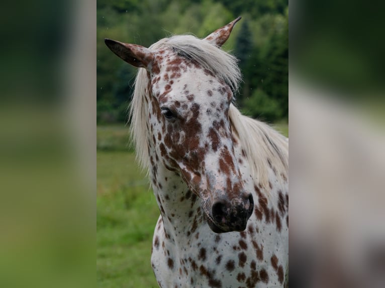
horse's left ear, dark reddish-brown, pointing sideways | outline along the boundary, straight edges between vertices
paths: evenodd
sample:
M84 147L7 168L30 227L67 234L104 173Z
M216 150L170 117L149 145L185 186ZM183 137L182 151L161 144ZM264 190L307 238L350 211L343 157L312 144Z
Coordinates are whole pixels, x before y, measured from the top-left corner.
M135 67L146 68L149 71L151 70L154 54L150 49L140 45L122 43L107 38L104 42L112 52L127 63Z

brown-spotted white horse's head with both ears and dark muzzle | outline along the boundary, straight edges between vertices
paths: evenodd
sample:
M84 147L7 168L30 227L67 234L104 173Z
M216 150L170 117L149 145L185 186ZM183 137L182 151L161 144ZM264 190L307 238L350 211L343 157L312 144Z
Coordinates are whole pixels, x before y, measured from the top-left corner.
M216 233L243 231L254 208L228 114L240 72L236 59L220 49L239 19L205 39L174 36L150 48L105 40L124 61L144 68L149 149L201 199Z

